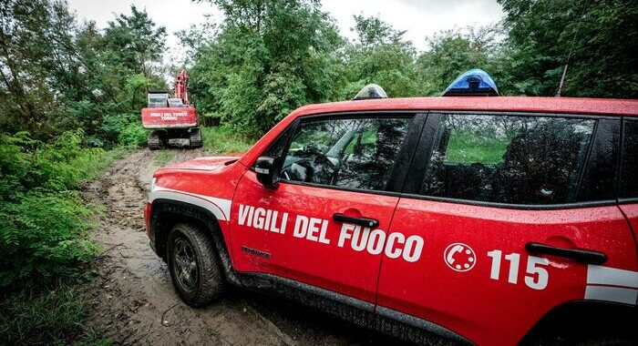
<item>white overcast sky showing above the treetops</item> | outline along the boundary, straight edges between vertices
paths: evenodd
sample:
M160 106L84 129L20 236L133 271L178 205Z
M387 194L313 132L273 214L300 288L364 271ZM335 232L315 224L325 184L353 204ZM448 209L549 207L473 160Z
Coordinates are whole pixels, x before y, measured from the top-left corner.
M131 4L146 8L150 18L166 27L168 45L178 46L173 35L191 24L204 21L205 14L221 21L221 13L208 3L190 0L67 0L79 20L95 21L104 27L114 14L129 13ZM406 38L419 50L426 48L425 37L439 30L462 28L468 25L491 25L503 13L496 0L323 0L324 11L336 20L341 34L353 38L350 27L353 15L376 15L396 29L406 30Z

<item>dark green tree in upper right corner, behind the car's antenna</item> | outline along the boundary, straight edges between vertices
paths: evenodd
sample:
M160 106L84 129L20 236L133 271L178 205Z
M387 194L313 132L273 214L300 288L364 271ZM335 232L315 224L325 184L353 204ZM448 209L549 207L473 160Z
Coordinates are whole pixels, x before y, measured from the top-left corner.
M623 1L499 0L506 13L519 92L554 96L567 65L561 95L638 96L638 6Z

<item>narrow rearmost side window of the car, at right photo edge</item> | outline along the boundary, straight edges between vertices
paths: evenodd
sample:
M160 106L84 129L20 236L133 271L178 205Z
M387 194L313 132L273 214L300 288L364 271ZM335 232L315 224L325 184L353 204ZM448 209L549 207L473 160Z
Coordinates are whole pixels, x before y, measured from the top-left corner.
M638 120L624 121L623 166L621 169L621 198L638 197Z

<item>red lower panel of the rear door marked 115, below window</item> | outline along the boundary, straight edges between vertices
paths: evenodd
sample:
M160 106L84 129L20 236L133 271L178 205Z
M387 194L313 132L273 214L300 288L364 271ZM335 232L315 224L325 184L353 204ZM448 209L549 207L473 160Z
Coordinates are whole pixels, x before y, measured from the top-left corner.
M588 266L574 260L543 256L549 263L538 267L547 270L547 286L526 285L526 277L536 279L526 273L530 241L600 250L608 256L604 267L638 270L632 232L616 206L518 210L401 198L392 229L421 235L427 251L417 263L383 261L377 304L434 321L478 344L515 344L553 307L585 298ZM445 249L458 242L476 254L472 270L448 268ZM488 252L495 249L520 256L516 283L509 281L511 266L504 258L499 280L490 279Z

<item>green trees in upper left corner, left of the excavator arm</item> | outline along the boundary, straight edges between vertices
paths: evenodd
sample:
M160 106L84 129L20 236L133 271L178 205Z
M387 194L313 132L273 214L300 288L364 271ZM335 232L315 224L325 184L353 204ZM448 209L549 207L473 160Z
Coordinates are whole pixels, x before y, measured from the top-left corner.
M118 133L102 132L104 117L139 119L149 88L167 88L165 29L135 6L103 32L78 25L65 2L7 0L0 11L0 132L49 141L82 128L91 145L110 147Z

